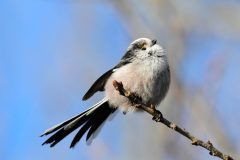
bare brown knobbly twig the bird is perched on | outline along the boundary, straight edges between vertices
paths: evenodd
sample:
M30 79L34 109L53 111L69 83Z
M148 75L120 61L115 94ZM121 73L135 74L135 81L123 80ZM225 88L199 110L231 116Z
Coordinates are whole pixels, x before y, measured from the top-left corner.
M221 151L216 149L213 144L210 141L204 142L195 136L193 136L191 133L186 131L183 128L180 128L176 124L170 122L169 120L165 119L161 112L156 110L155 107L148 106L146 104L143 104L141 99L137 97L134 93L131 93L130 91L127 91L124 89L122 82L117 82L116 80L113 81L114 88L119 92L120 95L125 96L130 100L130 102L133 104L133 106L136 106L147 113L151 114L153 116L153 120L156 122L161 122L167 127L175 130L176 132L180 133L181 135L185 136L191 141L192 145L195 146L201 146L207 150L209 150L209 154L212 156L219 157L223 160L234 160L231 156L223 154Z

